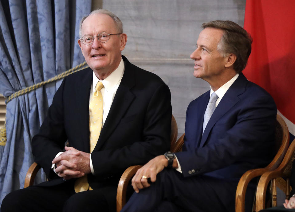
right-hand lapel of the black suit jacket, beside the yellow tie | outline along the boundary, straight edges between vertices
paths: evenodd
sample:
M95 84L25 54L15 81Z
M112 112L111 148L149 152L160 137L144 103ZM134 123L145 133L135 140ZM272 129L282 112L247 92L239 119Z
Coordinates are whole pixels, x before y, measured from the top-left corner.
M104 145L135 98L134 94L130 91L135 85L135 73L130 62L124 56L122 58L125 61L124 74L93 151L99 150Z

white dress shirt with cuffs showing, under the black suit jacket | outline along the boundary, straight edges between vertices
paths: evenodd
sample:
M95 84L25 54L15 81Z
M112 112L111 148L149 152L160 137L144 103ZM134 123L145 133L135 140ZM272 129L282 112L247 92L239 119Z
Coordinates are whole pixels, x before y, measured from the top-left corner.
M93 91L95 91L95 87L96 84L101 81L102 84L104 85L104 87L100 90L102 97L103 97L103 117L102 117L102 126L104 125L104 122L108 116L108 112L110 111L110 108L112 106L112 102L114 100L114 97L116 95L117 89L121 83L121 79L123 77L124 74L124 70L125 70L125 64L123 59L121 58L120 64L119 66L115 69L115 71L113 71L110 75L108 75L107 78L105 78L104 80L100 80L96 77L96 75L93 72L93 77L92 77L92 86L90 89L90 94L89 94L89 104L90 104L90 98L93 95ZM57 156L59 156L61 153L63 152L59 152L57 153ZM52 169L55 172L55 168L54 168L55 164L52 164ZM94 175L94 169L93 169L93 165L92 165L92 160L91 160L91 154L90 154L90 168L91 168L91 172Z

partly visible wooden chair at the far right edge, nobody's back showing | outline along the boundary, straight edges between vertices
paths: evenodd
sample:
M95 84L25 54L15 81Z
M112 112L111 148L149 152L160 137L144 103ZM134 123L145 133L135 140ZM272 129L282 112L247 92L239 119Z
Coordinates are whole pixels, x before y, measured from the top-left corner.
M267 188L270 182L271 191L271 206L277 206L277 187L279 187L286 195L286 199L290 197L290 176L293 165L293 160L295 158L295 139L292 141L288 148L288 151L278 168L273 171L265 172L257 186L256 192L256 211L265 209L265 200ZM284 179L283 179L284 178ZM269 190L268 190L269 191ZM269 204L270 205L270 204Z

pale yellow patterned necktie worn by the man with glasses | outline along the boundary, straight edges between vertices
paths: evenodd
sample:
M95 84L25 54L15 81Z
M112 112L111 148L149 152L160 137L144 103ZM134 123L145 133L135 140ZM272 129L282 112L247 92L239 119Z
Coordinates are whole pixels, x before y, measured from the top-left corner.
M104 85L102 82L96 84L95 91L93 92L92 98L89 104L89 131L90 131L90 153L96 146L98 137L100 135L102 127L102 117L103 117L103 100L100 89ZM92 190L87 181L87 175L79 178L75 182L76 193L81 191Z

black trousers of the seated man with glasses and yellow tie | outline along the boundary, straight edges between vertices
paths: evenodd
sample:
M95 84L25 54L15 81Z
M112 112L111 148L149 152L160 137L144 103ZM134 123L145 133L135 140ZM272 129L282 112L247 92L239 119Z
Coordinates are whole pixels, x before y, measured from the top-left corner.
M107 198L112 198L111 205ZM3 199L1 212L10 211L116 211L116 187L106 186L76 194L73 181L48 187L30 186L13 191Z

